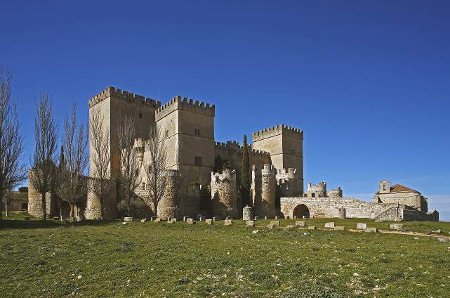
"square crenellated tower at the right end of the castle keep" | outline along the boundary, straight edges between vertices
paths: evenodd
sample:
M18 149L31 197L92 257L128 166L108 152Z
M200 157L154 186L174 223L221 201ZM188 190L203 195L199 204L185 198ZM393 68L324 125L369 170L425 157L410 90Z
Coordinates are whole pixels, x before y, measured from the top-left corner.
M252 148L270 153L277 170L296 169L296 188L303 194L303 131L286 125L277 125L253 133Z

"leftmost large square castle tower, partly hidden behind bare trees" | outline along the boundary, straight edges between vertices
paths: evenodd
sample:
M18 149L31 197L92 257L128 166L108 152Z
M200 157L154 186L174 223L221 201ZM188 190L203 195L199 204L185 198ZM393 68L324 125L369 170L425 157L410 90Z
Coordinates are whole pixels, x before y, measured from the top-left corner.
M120 150L118 140L118 127L125 117L135 120L135 138L147 138L150 130L155 125L155 110L161 103L157 100L146 98L141 95L122 91L114 87L108 87L89 100L89 129L92 129L91 121L95 113L99 113L103 119L103 128L109 136L110 163L108 166L111 177L120 170ZM89 176L95 178L97 173L93 164L92 143L89 144ZM89 187L88 201L86 208L87 219L98 219L100 217L100 200ZM104 217L113 218L115 216L116 198L111 193L105 203Z

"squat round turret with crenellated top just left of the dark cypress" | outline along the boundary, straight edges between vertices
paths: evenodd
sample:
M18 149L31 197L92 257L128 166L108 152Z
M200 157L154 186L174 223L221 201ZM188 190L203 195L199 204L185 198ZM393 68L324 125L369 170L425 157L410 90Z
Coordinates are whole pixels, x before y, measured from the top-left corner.
M213 214L221 218L238 216L236 171L211 172Z

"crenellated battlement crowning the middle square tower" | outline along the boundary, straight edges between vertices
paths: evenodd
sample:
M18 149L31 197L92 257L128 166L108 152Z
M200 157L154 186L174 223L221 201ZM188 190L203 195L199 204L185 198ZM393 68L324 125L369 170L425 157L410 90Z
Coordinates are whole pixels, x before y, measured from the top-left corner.
M175 96L156 110L156 120L164 118L175 110L189 110L214 117L216 106L195 99Z

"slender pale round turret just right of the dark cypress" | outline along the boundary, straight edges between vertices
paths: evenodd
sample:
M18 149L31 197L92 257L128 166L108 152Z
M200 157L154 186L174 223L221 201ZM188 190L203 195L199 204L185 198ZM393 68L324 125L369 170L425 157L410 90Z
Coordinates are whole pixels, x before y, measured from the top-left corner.
M276 180L275 169L272 165L265 164L264 168L257 173L256 168L253 168L252 173L252 196L255 214L259 217L273 217L276 215L275 209L275 195L276 195ZM257 178L258 177L258 178ZM259 184L260 183L260 184ZM259 189L259 190L258 190Z

